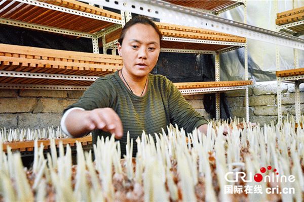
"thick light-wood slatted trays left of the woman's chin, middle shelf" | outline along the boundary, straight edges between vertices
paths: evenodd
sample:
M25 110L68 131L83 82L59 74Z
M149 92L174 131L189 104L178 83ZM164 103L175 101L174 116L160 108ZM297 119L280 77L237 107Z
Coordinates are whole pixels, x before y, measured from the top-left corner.
M0 70L102 76L122 68L120 56L0 44Z

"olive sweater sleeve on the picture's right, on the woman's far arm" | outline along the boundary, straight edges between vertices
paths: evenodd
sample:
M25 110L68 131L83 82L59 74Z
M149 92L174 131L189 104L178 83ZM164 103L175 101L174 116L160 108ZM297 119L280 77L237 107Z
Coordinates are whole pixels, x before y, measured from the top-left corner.
M168 106L170 113L170 123L177 124L186 132L192 132L195 128L208 121L185 100L181 92L174 84L166 78L168 89Z

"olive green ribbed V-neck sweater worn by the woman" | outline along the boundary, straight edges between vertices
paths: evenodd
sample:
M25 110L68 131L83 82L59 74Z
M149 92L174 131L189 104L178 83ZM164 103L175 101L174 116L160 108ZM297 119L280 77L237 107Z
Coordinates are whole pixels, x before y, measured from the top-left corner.
M177 124L186 132L208 122L187 103L179 90L162 75L148 75L146 93L140 97L124 84L118 72L98 78L79 101L64 110L80 107L85 110L112 108L121 118L124 135L120 139L122 154L126 153L127 132L133 138L133 154L136 154L136 138L142 131L154 136L162 128ZM98 135L109 135L102 130L92 131L93 143Z

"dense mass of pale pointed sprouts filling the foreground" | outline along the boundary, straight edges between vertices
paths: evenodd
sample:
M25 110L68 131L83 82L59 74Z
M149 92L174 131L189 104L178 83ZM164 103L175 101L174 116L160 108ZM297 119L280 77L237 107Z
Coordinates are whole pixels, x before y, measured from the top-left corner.
M212 127L214 126L214 128ZM58 150L51 141L51 153L44 156L43 145L35 141L34 162L23 168L19 153L7 154L0 144L0 200L126 200L126 201L301 201L304 193L304 130L291 122L282 125L210 123L208 133L194 130L186 134L178 127L167 127L162 134L142 133L137 139L128 134L126 155L121 159L120 142L114 137L98 139L92 151L77 143L77 165L72 165L69 145ZM216 132L215 132L216 131ZM136 157L133 144L137 144ZM93 161L94 159L94 161ZM280 175L293 175L293 182L258 184L262 193L227 194L225 187L240 185L226 180L229 172L260 172L271 165ZM270 174L270 173L266 173ZM229 178L233 178L230 176ZM248 178L246 178L248 179ZM242 186L254 186L254 180ZM294 193L268 194L267 187L293 187Z

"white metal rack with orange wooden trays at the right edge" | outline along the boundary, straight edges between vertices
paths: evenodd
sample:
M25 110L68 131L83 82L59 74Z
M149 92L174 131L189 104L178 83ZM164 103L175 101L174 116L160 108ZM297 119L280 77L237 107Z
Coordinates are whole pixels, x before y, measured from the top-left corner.
M277 14L276 27L277 31L292 36L300 36L304 34L304 7L292 9ZM302 19L302 20L299 20ZM280 71L279 49L276 46L276 76L277 76L277 102L278 102L278 123L282 123L282 93L281 84L294 84L294 103L295 103L295 121L300 123L300 89L299 86L304 82L304 68L299 68L298 51L293 48L294 53L294 69Z

